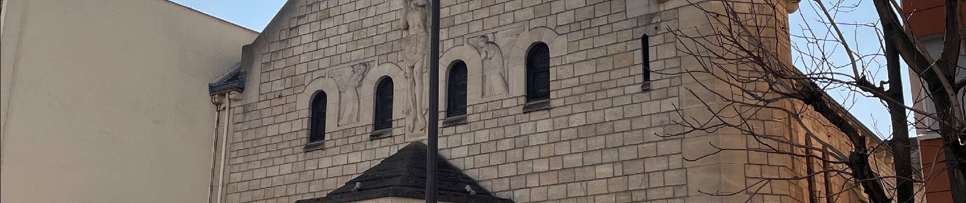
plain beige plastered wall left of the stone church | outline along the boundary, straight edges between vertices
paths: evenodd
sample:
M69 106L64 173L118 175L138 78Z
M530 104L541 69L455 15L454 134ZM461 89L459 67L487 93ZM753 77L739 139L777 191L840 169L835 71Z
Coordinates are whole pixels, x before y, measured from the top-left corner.
M207 84L258 33L163 0L5 0L0 202L205 202Z

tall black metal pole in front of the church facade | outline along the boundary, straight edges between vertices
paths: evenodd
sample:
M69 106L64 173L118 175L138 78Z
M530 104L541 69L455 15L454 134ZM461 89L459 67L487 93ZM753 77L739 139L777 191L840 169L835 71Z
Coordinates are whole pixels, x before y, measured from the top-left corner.
M437 148L440 121L440 0L430 3L429 33L429 125L426 128L426 203L436 203Z

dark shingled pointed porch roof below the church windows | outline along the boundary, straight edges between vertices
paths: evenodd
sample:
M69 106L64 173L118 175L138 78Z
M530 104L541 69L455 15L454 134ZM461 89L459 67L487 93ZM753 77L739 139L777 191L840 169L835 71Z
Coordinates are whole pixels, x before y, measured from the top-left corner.
M325 197L302 199L296 203L343 203L381 197L407 197L423 199L426 187L426 144L413 141L399 152L385 158L361 175L350 180L342 188L328 192ZM438 200L456 203L512 203L512 200L494 197L481 188L476 181L449 165L441 157L439 165ZM359 183L359 184L356 184ZM355 186L360 186L357 190ZM470 194L469 186L476 194Z

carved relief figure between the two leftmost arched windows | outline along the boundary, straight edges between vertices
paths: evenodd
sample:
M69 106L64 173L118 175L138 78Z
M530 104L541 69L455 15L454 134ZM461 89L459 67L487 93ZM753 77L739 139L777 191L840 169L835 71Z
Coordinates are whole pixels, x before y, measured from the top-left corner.
M342 74L336 80L339 88L339 125L351 124L359 121L359 91L362 86L362 76L369 70L369 64L358 63L349 68L348 74Z

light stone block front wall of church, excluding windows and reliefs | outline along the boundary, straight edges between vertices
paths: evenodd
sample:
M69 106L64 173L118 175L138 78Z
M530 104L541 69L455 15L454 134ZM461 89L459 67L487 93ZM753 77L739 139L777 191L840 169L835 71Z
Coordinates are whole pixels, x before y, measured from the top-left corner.
M702 192L737 190L763 175L802 171L790 157L763 159L751 153L683 160L713 151L709 143L750 147L751 140L740 133L658 136L683 131L674 124L681 119L679 111L707 116L695 96L682 92L713 82L654 74L650 89L641 90L639 38L650 36L653 70L679 72L698 64L676 51L682 42L667 28L693 32L708 29L710 22L688 1L628 1L442 1L440 68L462 60L470 77L468 123L440 129L440 155L487 190L516 202L744 202L750 195ZM325 196L407 142L425 140L403 129L404 95L412 88L403 83L400 67L402 7L402 0L293 0L282 8L254 42L261 57L254 60L247 83L258 88L246 89L232 109L227 202ZM513 45L500 47L510 53L509 91L484 96L478 76L485 67L468 38L521 27ZM551 47L552 108L524 113L522 64L537 41ZM782 56L790 56L782 50L788 53ZM355 63L373 68L359 90L360 121L340 126L333 111L342 106L333 96L338 94L333 73ZM441 85L446 72L440 69ZM395 82L395 129L389 138L370 140L372 95L377 80L386 76ZM306 152L308 102L318 90L329 100L327 138L324 149ZM440 106L444 111L444 100ZM761 160L769 162L752 163ZM752 169L758 172L746 172ZM801 185L768 186L754 202L807 201Z

